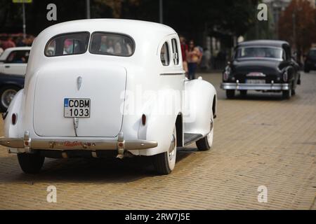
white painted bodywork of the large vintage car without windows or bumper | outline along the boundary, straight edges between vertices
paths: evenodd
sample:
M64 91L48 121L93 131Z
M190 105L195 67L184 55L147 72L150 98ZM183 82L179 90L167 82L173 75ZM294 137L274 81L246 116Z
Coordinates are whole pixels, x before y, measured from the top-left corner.
M93 55L89 50L81 55L44 55L46 43L53 36L78 31L127 34L135 41L135 52L131 57ZM150 156L169 150L179 116L183 123L180 124L182 132L177 134L182 139L184 133L205 137L210 132L211 116L216 115L213 114L216 90L204 80L186 80L181 52L178 65L172 57L169 66L162 65L160 49L165 41L171 47L172 38L176 38L180 51L176 31L152 22L77 20L48 27L32 45L25 89L13 100L5 120L6 137L22 138L27 131L31 139L114 141L122 132L127 141L157 141L155 148L130 151L133 155ZM78 76L82 76L80 90L77 90ZM157 113L170 106L170 102L157 101L157 96L168 98L172 91L179 93L171 101L172 113ZM79 119L78 137L74 135L73 120L63 117L65 97L91 99L91 118ZM12 113L18 113L18 125L12 125ZM178 146L183 146L183 142Z

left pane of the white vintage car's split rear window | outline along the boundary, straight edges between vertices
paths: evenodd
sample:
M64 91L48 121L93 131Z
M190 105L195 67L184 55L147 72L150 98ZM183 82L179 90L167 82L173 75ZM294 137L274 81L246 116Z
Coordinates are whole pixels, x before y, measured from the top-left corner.
M60 34L48 41L45 48L47 57L84 54L88 49L88 32Z

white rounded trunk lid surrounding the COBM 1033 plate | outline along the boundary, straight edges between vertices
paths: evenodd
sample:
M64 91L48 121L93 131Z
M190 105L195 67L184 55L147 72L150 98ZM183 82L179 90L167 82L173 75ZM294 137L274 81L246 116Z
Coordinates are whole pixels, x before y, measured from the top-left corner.
M75 137L74 118L64 117L65 99L90 99L90 117L78 118L77 137L116 137L123 122L126 76L124 67L104 62L50 64L41 69L35 87L34 131L42 137Z

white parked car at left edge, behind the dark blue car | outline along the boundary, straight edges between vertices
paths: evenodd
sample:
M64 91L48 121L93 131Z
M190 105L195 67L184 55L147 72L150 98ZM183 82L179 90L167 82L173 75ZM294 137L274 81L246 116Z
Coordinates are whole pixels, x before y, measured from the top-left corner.
M0 73L25 76L31 47L7 48L0 56Z

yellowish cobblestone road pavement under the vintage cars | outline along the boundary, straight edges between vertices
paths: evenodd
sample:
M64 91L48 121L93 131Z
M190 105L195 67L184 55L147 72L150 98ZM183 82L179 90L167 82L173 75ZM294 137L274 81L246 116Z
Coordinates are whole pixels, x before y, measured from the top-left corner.
M316 209L316 73L302 75L289 101L256 92L228 100L220 74L204 79L219 99L211 151L180 149L169 176L144 158L46 160L27 175L1 147L0 209ZM46 202L51 185L57 203Z

